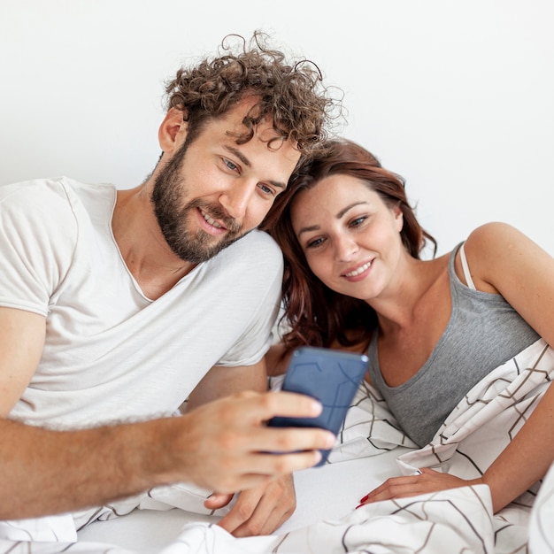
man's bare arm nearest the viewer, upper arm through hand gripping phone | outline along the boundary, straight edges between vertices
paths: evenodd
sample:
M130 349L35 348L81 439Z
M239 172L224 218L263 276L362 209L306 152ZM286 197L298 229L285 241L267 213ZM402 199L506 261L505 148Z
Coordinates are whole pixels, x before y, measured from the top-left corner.
M0 308L0 519L38 517L105 504L151 487L194 482L233 493L317 464L332 445L320 430L269 429L274 415L317 415L297 395L228 396L178 418L76 431L7 419L42 355L45 322ZM275 456L264 452L307 450Z

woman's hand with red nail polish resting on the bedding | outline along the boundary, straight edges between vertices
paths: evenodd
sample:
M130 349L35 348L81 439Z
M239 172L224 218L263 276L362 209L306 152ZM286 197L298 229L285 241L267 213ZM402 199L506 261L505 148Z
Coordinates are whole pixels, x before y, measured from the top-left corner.
M449 473L435 472L435 470L429 469L428 467L422 467L419 471L421 473L416 475L391 477L377 487L377 489L373 489L368 495L364 496L360 500L360 504L357 508L364 504L379 502L381 500L425 495L439 490L479 485L483 482L481 479L466 481L465 479L460 479Z

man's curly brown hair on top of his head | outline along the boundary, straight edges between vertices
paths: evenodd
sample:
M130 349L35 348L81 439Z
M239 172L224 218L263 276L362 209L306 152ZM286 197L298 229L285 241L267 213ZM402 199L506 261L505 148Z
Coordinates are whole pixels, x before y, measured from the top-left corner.
M233 39L238 39L233 43ZM204 123L219 118L245 96L258 96L243 119L245 132L236 142L250 141L257 125L270 116L277 133L270 142L296 142L302 154L314 150L327 137L327 124L338 102L327 96L317 65L307 59L289 63L279 50L266 47L267 35L256 31L250 43L240 35L227 35L217 58L204 58L192 67L181 67L166 82L167 110L177 108L188 121L188 141Z

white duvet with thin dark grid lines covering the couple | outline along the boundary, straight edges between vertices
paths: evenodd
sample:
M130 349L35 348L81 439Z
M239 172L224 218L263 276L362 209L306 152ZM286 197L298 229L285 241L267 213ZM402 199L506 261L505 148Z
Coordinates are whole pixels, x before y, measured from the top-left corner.
M358 390L329 462L337 465L333 468L336 474L342 462L357 458L359 463L359 458L364 458L370 472L373 456L398 450L397 463L403 473L432 466L472 479L487 469L517 433L553 376L554 351L537 341L478 383L450 413L433 442L422 449L399 430L375 390L364 386ZM343 479L347 481L349 476L345 470ZM199 521L182 527L158 553L554 552L554 466L540 489L539 485L496 515L488 487L480 485L367 504L352 508L339 519L322 519L288 533L278 530L261 537L235 538L210 522ZM77 541L76 528L91 519L112 519L136 508L168 510L176 506L205 513L204 492L184 485L158 488L73 517L0 522L0 554L135 554L109 542ZM366 492L361 489L360 496Z

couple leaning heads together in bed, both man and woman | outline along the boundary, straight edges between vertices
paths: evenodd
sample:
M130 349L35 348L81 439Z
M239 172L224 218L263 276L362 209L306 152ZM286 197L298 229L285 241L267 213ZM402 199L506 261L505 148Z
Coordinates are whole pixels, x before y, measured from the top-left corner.
M269 534L294 511L291 473L335 437L265 427L321 408L268 392L266 360L274 373L303 344L367 350L367 379L424 445L484 375L554 344L547 253L491 223L420 259L435 240L402 179L329 136L338 103L317 66L261 34L222 46L168 81L162 154L135 189L0 187L0 519L189 482L213 491L209 509L240 491L219 525ZM269 350L281 305L288 332ZM472 481L496 511L554 458L553 395ZM468 482L422 468L365 502Z

